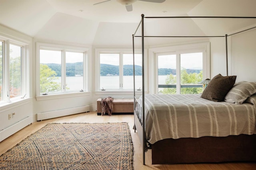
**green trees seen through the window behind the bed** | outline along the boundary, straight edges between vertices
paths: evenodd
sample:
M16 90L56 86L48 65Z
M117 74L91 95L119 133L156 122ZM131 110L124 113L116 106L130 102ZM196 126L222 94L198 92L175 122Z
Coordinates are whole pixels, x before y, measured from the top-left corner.
M188 74L186 69L182 69L180 72L180 82L181 84L198 84L198 82L202 81L203 71L201 70L199 73L190 73ZM169 74L165 80L166 84L176 84L176 77L172 74ZM181 94L198 94L202 93L202 88L181 88ZM164 90L160 91L162 94L176 94L176 88L164 88Z

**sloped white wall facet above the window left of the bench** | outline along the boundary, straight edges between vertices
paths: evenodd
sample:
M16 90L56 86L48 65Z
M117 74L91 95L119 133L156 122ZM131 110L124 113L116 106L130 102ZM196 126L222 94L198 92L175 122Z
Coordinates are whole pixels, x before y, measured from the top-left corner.
M36 39L91 45L98 22L57 12L36 33Z

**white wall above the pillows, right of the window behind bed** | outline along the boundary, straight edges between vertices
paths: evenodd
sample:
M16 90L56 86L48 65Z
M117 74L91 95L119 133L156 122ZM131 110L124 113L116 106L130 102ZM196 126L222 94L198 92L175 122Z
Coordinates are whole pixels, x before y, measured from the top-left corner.
M255 25L254 25L255 26ZM250 27L253 27L250 26ZM244 28L246 29L246 28ZM241 30L244 30L241 29ZM238 32L237 30L235 32ZM210 39L211 78L217 74L226 76L225 37ZM256 29L228 37L228 75L236 75L236 82L256 82Z

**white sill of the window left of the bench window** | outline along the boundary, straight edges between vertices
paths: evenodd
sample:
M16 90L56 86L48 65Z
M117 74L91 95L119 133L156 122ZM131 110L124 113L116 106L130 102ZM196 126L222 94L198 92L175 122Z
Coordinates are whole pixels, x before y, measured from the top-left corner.
M72 98L78 96L89 96L91 92L77 92L77 93L65 93L65 94L48 94L44 96L36 96L36 101L51 100L51 99L62 99Z

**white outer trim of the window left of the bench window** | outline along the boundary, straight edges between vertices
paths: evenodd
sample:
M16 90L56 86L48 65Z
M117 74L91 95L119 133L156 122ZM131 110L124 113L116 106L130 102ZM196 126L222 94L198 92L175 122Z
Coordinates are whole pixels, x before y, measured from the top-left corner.
M66 92L58 92L52 93L48 95L40 95L40 49L47 50L61 50L61 51L72 51L72 52L83 52L86 53L84 56L84 92L77 91L66 91ZM36 42L36 100L50 100L50 99L60 99L60 98L69 98L69 97L78 97L78 96L88 96L91 94L89 91L89 56L90 56L91 48L89 47L75 47L70 45L57 45L57 44L49 44L49 43L40 43ZM65 63L64 63L65 64ZM62 67L63 68L63 67ZM62 72L63 73L63 72Z

